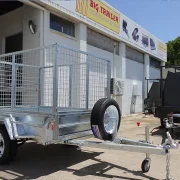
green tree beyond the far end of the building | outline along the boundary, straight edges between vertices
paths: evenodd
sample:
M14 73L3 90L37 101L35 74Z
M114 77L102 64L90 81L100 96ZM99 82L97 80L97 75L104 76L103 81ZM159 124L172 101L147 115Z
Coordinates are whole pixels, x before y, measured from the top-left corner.
M167 43L167 64L180 65L180 37Z

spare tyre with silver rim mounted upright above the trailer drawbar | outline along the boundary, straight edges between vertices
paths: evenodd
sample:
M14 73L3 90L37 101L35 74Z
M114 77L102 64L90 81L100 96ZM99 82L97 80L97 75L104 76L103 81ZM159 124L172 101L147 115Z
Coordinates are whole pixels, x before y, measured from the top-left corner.
M96 102L91 113L91 129L94 136L105 141L113 141L121 122L118 103L103 98Z

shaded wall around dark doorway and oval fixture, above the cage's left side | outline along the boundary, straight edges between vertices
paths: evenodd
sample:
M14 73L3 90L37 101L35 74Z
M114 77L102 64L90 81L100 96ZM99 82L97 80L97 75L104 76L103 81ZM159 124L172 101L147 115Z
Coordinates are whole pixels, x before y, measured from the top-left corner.
M42 28L41 11L24 5L14 11L0 16L0 54L5 53L5 37L23 32L23 50L40 46L40 28ZM36 28L36 34L29 30L29 20L32 20Z

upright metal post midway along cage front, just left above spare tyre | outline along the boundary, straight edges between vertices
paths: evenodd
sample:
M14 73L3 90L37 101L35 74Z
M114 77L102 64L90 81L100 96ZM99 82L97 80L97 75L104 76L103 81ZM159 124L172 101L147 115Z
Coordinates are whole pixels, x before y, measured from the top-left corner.
M90 65L90 56L87 55L86 63L86 109L89 107L89 65Z

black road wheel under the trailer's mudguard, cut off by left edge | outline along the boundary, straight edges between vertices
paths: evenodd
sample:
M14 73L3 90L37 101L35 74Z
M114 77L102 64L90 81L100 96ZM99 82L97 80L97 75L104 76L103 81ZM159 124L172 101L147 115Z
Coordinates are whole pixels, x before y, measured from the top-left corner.
M0 164L11 162L16 156L17 141L9 138L4 126L0 126Z

